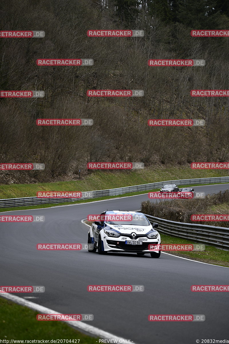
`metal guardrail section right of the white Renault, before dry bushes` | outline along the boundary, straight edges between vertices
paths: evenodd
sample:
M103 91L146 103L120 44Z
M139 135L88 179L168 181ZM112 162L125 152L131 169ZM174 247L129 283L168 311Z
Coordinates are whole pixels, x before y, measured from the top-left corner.
M147 214L146 217L150 223L159 224L158 232L229 251L229 228L169 221Z

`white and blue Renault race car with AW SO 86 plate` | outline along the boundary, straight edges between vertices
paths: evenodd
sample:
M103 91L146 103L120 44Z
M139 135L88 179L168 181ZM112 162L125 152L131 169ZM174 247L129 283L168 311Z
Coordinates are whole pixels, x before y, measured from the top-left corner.
M98 249L100 255L107 252L134 252L139 256L150 253L152 258L160 257L161 237L154 229L159 225L151 225L144 214L105 211L99 219L101 221L93 222L88 232L88 244L93 245L90 245L89 252Z

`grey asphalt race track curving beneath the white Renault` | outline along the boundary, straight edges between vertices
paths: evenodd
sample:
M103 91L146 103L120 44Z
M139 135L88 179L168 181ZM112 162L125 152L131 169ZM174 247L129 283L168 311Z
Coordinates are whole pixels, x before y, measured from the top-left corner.
M195 187L214 193L229 184ZM92 313L88 324L139 344L192 344L229 339L227 292L191 292L192 284L229 284L229 269L167 254L108 254L37 251L37 243L87 243L81 219L106 209L140 209L147 194L1 213L44 215L44 223L1 223L0 285L45 286L31 301L61 313ZM223 226L223 224L222 224ZM160 232L160 230L159 230ZM143 284L144 292L88 292L88 284ZM149 322L149 314L204 314L204 322ZM69 338L70 339L70 338Z

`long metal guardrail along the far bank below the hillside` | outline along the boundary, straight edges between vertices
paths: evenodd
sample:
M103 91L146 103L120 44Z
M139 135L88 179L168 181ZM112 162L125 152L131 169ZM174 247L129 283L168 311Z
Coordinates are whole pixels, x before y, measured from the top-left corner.
M181 179L181 180L167 180L158 183L149 183L141 185L133 185L126 187L117 187L116 189L97 190L82 192L81 198L37 198L37 197L22 197L22 198L7 198L0 200L0 208L16 207L16 206L28 206L47 203L62 203L62 202L74 202L80 200L88 200L90 198L103 197L103 196L116 196L123 195L129 192L154 190L162 187L165 184L178 184L190 185L192 184L211 184L211 183L227 183L229 177L216 177L216 178L197 178L197 179ZM78 191L78 190L71 190Z

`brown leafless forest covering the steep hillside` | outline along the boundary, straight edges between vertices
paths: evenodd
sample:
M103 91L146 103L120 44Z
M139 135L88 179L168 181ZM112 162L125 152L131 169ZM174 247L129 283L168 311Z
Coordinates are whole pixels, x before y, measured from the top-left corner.
M206 22L192 23L182 20L182 1L178 12L166 1L166 17L151 3L2 0L2 30L45 31L40 39L0 42L1 90L45 92L37 99L1 98L2 162L45 163L45 171L34 172L42 181L86 172L88 161L228 161L228 98L190 96L191 89L229 89L229 39L190 35L203 25L229 28L227 13L209 12ZM89 29L141 29L145 36L91 38ZM38 67L37 58L92 58L94 65ZM150 58L204 59L206 65L149 67ZM88 89L143 89L145 96L89 98ZM92 118L94 125L39 127L37 118ZM149 127L151 118L205 119L206 126Z

